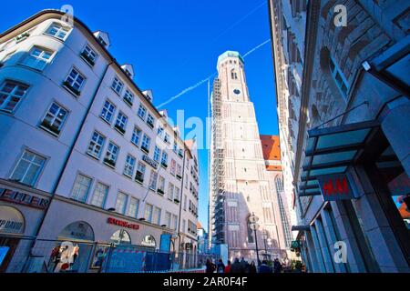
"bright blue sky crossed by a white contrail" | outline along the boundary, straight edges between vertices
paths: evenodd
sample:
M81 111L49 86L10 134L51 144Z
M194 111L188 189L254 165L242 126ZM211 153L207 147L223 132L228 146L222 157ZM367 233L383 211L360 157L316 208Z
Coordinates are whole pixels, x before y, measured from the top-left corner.
M141 89L152 89L154 104L179 94L216 72L218 55L236 50L242 55L270 38L265 0L221 1L4 1L0 31L39 10L69 4L92 31L108 32L109 51L120 64L134 65ZM7 12L7 13L5 13ZM247 83L261 134L277 135L271 45L245 59ZM207 116L207 85L182 95L166 108L176 118ZM204 119L205 120L205 119ZM207 152L200 151L200 222L208 216Z

